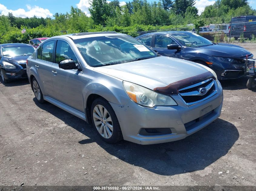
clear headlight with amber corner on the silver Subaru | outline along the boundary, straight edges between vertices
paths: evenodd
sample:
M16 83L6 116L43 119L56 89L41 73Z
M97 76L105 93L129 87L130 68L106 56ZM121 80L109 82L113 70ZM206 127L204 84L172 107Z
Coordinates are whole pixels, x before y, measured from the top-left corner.
M175 106L178 105L170 96L157 93L140 85L123 81L126 93L134 102L146 106Z

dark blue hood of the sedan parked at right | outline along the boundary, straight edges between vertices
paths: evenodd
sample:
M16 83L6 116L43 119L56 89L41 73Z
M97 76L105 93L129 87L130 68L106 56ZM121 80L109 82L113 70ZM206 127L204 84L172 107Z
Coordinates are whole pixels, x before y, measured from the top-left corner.
M216 44L204 47L193 47L194 51L197 50L209 50L209 55L211 56L221 56L221 57L230 57L230 58L241 58L246 55L251 55L251 53L239 46L230 46L228 44Z

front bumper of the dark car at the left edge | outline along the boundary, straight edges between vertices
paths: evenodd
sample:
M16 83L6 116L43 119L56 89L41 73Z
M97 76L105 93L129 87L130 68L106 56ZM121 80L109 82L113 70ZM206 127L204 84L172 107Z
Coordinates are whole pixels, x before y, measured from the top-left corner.
M1 68L4 78L6 80L9 79L19 79L19 78L28 78L27 71L25 69L21 68ZM12 74L12 75L11 75ZM15 75L13 75L15 74Z

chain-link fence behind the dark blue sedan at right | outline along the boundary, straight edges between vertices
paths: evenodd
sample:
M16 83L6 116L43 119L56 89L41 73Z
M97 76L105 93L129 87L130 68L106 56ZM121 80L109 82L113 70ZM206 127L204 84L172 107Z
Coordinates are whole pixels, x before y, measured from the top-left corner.
M214 23L220 21L221 18L210 18L208 23ZM226 19L227 20L227 19ZM138 31L138 35L152 32L162 31L191 31L196 33L193 25L190 24L187 27L180 28L168 28L151 31ZM220 42L252 42L256 43L256 16L238 16L230 18L229 23L224 24L208 24L207 26L200 27L199 34L211 40L214 43Z

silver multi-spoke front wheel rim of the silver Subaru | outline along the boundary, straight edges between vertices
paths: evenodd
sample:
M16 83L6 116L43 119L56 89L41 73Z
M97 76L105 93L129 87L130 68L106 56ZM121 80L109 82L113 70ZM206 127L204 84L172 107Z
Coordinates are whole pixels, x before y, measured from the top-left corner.
M93 121L96 129L104 138L110 138L113 134L113 122L108 110L98 104L93 109Z

